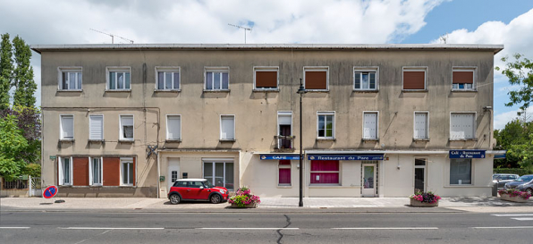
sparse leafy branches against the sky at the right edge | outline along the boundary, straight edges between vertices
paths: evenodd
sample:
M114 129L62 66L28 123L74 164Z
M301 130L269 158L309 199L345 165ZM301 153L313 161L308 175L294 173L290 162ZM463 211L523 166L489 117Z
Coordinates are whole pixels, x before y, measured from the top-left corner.
M523 55L513 55L514 62L510 62L507 56L502 58L505 68L502 74L509 78L511 85L520 86L518 90L509 91L511 102L506 106L520 105L520 110L525 111L533 102L533 63ZM500 67L495 68L500 71ZM520 115L520 112L518 113Z

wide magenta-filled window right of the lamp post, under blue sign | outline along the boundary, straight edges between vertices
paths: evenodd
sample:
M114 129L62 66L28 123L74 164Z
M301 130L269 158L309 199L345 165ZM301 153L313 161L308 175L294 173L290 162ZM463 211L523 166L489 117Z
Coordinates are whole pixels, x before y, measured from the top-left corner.
M339 161L311 161L311 184L339 184Z

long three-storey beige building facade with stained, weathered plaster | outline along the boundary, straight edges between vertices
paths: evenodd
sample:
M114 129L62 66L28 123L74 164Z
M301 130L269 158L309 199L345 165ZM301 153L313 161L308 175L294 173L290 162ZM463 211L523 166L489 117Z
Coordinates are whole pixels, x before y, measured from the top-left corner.
M44 45L42 185L165 198L491 194L498 45ZM308 91L296 93L300 79Z

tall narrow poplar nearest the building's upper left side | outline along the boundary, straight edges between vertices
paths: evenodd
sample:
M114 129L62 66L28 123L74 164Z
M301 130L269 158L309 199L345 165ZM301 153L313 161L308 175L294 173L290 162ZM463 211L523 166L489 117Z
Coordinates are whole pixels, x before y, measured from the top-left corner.
M33 80L33 67L30 65L30 46L22 38L13 38L16 68L13 72L13 86L15 94L13 105L35 107L35 90L37 84Z

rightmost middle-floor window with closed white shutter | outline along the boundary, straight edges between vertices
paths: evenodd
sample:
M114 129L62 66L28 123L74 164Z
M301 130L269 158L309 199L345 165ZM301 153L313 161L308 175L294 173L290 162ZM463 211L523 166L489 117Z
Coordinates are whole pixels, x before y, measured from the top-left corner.
M475 113L452 113L450 139L475 139Z

